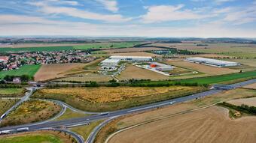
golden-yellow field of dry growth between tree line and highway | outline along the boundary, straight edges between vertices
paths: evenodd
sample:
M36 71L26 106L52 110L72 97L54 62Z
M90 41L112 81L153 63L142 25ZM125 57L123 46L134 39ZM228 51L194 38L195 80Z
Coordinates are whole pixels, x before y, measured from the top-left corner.
M57 88L41 89L40 94L66 94L78 97L91 103L108 103L119 100L129 100L133 97L143 97L154 94L163 94L174 91L190 91L193 87L172 86L160 88L142 88L142 87L117 87L117 88Z

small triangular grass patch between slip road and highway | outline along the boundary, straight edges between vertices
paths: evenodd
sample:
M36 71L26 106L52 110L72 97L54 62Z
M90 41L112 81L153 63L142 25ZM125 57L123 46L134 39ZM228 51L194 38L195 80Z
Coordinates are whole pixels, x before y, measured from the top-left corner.
M90 133L93 131L93 129L101 123L102 123L102 121L93 121L93 122L90 122L90 125L72 127L71 130L73 132L78 133L79 135L83 136L83 138L86 140L88 138L88 136L90 135Z

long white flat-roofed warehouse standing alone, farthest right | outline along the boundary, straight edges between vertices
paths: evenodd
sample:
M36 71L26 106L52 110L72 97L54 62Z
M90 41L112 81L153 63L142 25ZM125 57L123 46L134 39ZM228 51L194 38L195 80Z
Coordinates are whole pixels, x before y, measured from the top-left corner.
M214 67L232 67L232 66L240 65L237 62L221 61L221 60L215 60L211 58L200 58L200 57L186 58L186 61L190 61L198 64L206 64Z

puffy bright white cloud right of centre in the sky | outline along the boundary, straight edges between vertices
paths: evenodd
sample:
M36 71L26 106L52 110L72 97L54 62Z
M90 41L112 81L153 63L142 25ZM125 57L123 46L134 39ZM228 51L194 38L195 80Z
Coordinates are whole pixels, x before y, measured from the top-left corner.
M146 9L148 9L148 13L142 16L142 20L145 23L151 23L188 19L203 19L210 17L204 14L198 14L192 10L181 10L182 7L184 7L183 4L179 4L177 6L158 5L146 7Z

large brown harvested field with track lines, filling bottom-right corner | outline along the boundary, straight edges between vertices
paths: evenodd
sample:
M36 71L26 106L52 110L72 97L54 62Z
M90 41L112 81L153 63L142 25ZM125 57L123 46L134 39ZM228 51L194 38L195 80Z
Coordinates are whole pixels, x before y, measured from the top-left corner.
M248 126L250 124L250 126ZM214 106L144 124L118 133L117 142L254 142L255 117L232 121L228 110Z

